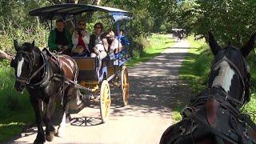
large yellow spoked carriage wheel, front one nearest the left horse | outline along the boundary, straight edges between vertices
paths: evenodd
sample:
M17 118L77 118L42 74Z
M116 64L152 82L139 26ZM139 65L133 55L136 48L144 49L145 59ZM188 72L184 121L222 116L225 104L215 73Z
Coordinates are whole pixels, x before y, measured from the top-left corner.
M110 86L109 83L104 80L102 82L101 86L101 95L100 95L100 102L101 102L101 116L102 116L102 123L105 123L107 118L109 118L110 115L110 104L111 104L111 99L110 99Z

